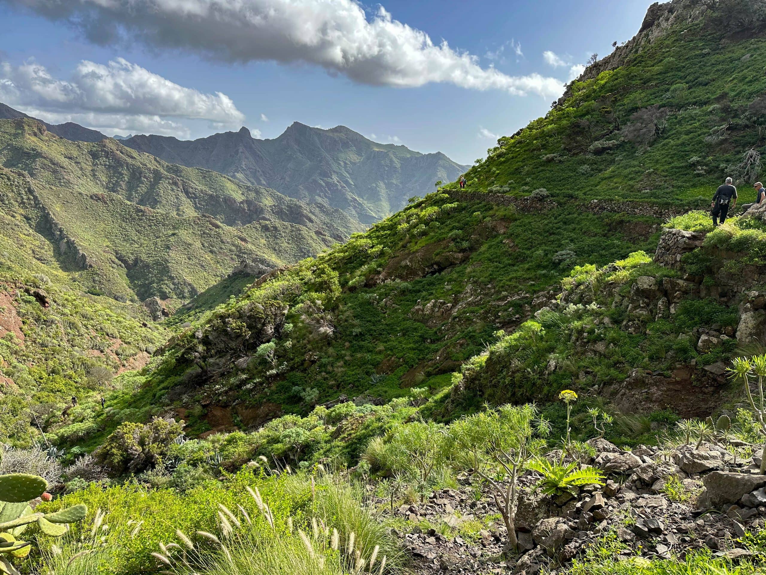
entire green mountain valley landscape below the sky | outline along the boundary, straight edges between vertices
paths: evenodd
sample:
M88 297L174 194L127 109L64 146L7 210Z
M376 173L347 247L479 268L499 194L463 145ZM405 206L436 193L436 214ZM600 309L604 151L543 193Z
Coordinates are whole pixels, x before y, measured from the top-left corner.
M0 572L764 573L764 33L654 4L473 166L0 109Z

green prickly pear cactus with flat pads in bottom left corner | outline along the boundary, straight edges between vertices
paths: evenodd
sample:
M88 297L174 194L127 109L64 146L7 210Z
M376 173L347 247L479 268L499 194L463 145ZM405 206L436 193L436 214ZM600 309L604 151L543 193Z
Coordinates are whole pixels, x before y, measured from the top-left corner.
M36 523L46 535L61 537L67 532L67 524L85 518L88 509L83 504L55 513L34 513L28 501L42 497L46 489L47 481L38 475L0 475L0 573L18 575L10 558L29 554L31 544L18 537L31 524Z

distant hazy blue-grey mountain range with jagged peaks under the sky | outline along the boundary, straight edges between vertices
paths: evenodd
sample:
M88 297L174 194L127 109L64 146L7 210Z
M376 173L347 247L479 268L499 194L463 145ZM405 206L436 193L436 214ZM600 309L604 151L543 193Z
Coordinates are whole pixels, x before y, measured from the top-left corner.
M345 126L322 130L298 122L274 140L255 140L242 128L194 141L133 136L123 143L166 162L214 169L342 209L366 225L401 209L434 182L456 179L467 167L442 153L372 142Z

